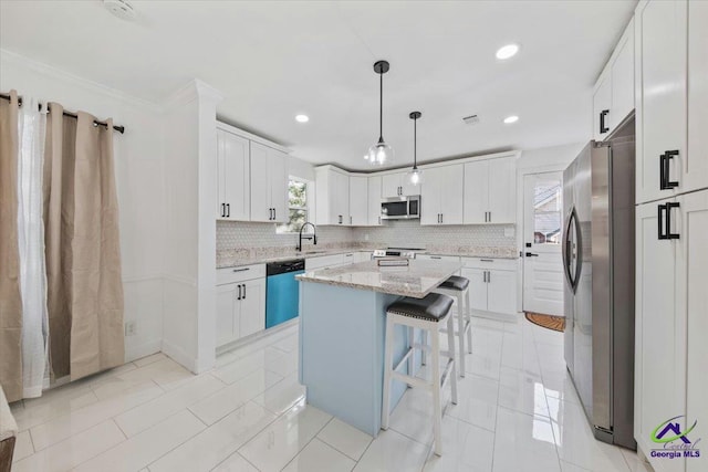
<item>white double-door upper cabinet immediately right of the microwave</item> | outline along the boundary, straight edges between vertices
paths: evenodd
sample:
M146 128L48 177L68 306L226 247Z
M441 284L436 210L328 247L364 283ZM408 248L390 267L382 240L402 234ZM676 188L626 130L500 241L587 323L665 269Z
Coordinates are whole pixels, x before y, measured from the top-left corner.
M420 188L420 224L462 224L464 166L424 170Z

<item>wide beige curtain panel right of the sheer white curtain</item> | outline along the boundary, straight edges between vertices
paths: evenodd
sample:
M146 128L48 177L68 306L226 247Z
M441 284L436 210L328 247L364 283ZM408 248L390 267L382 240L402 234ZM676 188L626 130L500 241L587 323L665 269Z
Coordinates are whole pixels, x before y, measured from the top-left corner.
M113 123L50 104L44 223L50 356L72 380L124 363Z

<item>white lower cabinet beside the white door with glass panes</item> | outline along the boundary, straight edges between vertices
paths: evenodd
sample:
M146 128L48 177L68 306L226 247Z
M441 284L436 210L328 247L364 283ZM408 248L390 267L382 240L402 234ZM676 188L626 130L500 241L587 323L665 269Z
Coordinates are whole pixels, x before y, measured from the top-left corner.
M472 310L513 315L517 313L517 271L514 259L461 258L462 276L469 279Z

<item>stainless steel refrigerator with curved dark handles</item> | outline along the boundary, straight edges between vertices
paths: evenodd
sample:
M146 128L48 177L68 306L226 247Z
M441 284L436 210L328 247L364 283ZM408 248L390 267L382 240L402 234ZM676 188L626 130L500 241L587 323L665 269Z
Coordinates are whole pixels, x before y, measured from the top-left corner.
M595 438L634 441L635 128L629 116L563 172L565 364Z

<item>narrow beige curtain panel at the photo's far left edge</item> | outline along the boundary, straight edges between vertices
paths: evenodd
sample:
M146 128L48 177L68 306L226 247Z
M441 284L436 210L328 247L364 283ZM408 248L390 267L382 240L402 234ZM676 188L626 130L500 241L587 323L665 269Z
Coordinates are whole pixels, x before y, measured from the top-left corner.
M18 95L0 98L0 385L22 398L22 298L18 245Z

